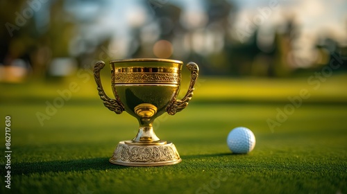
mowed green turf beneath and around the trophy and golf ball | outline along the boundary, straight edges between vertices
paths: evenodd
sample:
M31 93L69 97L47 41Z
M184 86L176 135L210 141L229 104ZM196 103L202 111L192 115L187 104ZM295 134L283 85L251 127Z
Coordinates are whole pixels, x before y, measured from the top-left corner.
M132 139L138 126L135 118L126 112L117 115L103 107L96 89L89 91L88 86L86 92L86 87L80 84L81 93L95 92L95 96L73 93L41 125L37 112L46 114L46 102L53 103L58 96L54 92L67 87L2 85L5 89L17 87L22 90L1 94L2 128L5 127L5 116L11 116L12 154L11 188L5 188L6 161L1 159L0 191L347 193L347 100L343 100L345 93L341 90L346 89L340 82L345 79L336 78L337 84L331 83L338 88L332 89L332 94L341 94L339 96L327 95L325 98L323 91L321 94L324 95L319 95L320 89L327 87L323 84L329 83L312 89L304 80L303 84L296 81L300 83L290 85L288 82L293 92L285 95L265 89L278 96L277 100L273 97L275 100L266 101L257 100L257 93L264 96L261 89L247 93L253 84L260 85L257 80L223 80L223 87L218 88L210 85L219 80L207 78L196 89L196 96L183 112L175 116L164 114L155 122L155 133L161 139L173 141L183 159L180 164L161 167L126 167L108 162L117 143ZM278 83L271 85L271 82L275 80L266 85L279 87L276 86ZM226 89L237 92L233 87L242 84L246 87L240 92L246 100L235 100L237 97L225 94ZM35 98L31 88L54 92ZM199 88L204 92L210 88L214 95L201 92L199 98ZM285 106L290 104L287 97L298 95L303 88L312 96L302 99L300 106L286 114L287 119L279 121L279 110L285 112ZM30 99L6 99L6 95L19 94ZM209 95L214 99L206 100ZM270 127L269 119L279 125ZM248 127L255 134L257 143L248 155L232 155L226 145L228 132L238 126ZM0 142L0 150L5 155L4 135Z

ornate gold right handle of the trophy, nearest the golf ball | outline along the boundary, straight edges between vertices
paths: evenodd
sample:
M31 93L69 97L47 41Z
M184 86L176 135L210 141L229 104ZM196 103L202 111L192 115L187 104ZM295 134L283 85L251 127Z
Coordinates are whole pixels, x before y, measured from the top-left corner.
M176 112L180 112L185 107L187 107L189 100L192 99L193 96L194 85L196 79L198 78L198 65L195 62L189 62L185 67L187 67L187 69L192 72L189 89L182 100L176 100L176 96L173 98L171 105L167 107L167 113L170 115L174 115L176 114Z

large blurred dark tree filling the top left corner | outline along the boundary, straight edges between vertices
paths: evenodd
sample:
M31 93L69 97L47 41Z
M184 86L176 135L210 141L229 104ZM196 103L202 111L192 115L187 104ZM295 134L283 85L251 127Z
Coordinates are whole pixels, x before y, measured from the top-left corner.
M75 24L63 9L64 1L49 1L49 30L37 28L35 17L44 8L41 1L0 1L0 63L8 66L22 59L33 76L46 74L51 58L68 57L68 46ZM46 8L46 7L45 7Z

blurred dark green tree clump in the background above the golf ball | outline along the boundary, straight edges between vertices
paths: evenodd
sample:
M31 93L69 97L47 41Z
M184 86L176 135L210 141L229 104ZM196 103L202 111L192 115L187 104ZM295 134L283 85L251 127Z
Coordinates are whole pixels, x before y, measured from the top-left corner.
M248 42L233 41L226 48L230 53L229 61L232 62L230 75L289 76L294 70L290 58L291 51L293 51L292 42L297 35L297 26L289 18L285 24L285 31L279 33L275 28L273 40L266 40L268 42L266 45L262 45L264 44L262 39L266 39L266 37L262 37L259 28L251 35Z

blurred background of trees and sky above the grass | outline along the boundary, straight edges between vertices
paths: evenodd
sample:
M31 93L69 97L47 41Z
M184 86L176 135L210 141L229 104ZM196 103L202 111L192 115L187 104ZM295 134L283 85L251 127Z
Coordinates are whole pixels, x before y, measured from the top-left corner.
M194 61L203 76L290 78L336 61L330 70L344 72L346 10L344 0L1 0L0 82L124 58Z

